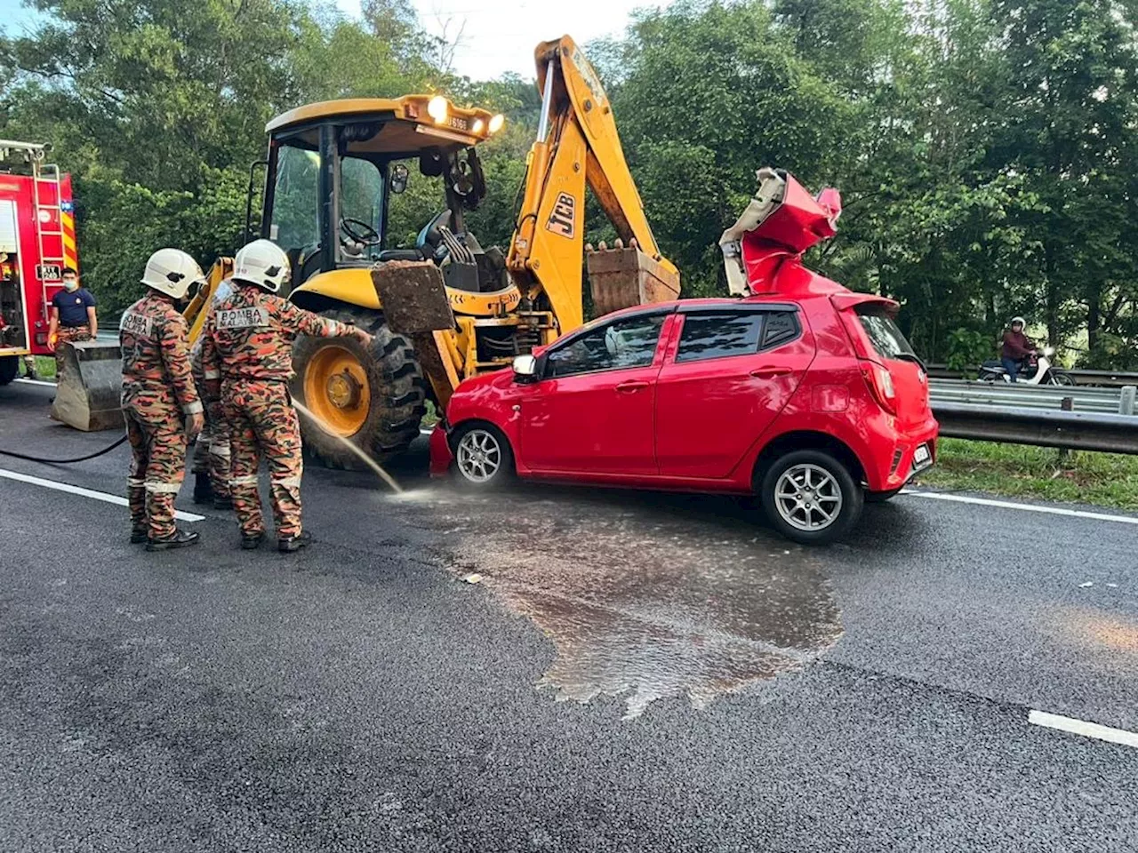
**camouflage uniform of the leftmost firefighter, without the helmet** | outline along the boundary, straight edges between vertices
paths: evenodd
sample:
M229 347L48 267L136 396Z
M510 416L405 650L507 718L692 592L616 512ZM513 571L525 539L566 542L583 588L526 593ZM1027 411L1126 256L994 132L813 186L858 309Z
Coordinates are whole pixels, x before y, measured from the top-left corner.
M157 293L123 314L123 417L131 442L131 525L173 536L174 497L185 474L185 415L201 412L190 373L185 318Z

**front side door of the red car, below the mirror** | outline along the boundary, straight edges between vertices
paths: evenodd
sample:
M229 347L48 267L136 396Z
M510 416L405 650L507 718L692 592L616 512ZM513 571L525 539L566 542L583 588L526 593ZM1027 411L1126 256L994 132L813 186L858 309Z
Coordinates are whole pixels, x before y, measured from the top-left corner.
M655 474L657 354L671 310L586 328L546 351L541 381L520 403L522 464L535 472Z

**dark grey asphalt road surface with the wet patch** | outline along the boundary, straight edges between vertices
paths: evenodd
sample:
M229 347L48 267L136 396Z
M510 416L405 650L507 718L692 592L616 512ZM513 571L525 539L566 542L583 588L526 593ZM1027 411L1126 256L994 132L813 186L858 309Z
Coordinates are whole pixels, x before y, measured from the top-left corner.
M0 389L0 448L113 440L49 396ZM295 556L213 510L147 554L0 473L0 851L1138 847L1138 751L1028 722L1138 730L1135 525L902 496L807 550L422 453L401 497L310 467ZM0 469L117 495L125 459Z

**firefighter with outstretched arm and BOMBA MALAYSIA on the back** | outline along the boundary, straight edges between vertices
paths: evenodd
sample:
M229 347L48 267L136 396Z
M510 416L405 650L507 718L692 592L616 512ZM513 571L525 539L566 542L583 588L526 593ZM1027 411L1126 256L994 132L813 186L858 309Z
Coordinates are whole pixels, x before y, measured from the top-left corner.
M207 395L220 394L230 430L230 497L241 530L241 547L254 549L265 537L257 494L257 467L264 453L277 524L277 547L284 553L308 545L300 523L300 425L288 392L292 341L371 336L355 326L303 310L277 296L288 281L288 257L269 240L255 240L233 259L233 293L206 321L203 366Z

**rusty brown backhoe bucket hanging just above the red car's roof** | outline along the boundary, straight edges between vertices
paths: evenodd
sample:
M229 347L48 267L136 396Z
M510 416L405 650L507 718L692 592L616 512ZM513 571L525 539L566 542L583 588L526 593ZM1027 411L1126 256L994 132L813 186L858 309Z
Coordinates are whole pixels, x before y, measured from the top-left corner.
M679 298L679 273L645 255L633 240L619 240L610 249L585 247L585 265L593 292L594 315L600 317L620 308Z

